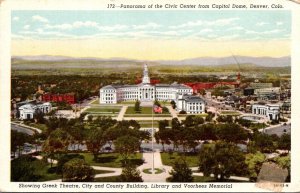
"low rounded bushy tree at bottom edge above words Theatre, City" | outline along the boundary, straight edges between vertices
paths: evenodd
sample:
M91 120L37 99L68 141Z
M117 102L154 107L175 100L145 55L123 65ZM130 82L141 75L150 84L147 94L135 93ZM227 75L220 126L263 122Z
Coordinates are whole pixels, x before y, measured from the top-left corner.
M94 181L95 171L83 159L74 158L63 166L63 182Z

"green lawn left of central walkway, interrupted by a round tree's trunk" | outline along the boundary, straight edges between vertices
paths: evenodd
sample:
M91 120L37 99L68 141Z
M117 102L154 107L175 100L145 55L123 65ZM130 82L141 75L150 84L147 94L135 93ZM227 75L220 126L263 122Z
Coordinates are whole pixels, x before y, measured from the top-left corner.
M98 155L98 160L94 160L94 155L92 153L80 153L84 156L84 159L91 166L102 166L102 167L122 167L122 157L119 153L101 153ZM129 162L136 165L141 165L143 163L142 154L135 153L129 157Z

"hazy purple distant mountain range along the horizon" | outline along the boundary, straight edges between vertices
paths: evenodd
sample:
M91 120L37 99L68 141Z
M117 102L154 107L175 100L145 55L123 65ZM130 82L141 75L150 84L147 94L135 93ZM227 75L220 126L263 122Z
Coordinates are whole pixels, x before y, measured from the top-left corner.
M196 66L222 66L228 64L254 64L257 66L264 67L285 67L291 66L291 57L249 57L249 56L228 56L228 57L199 57L199 58L190 58L184 60L156 60L156 61L142 61L134 60L128 58L93 58L93 57L84 57L84 58L73 58L67 56L13 56L12 61L15 60L26 60L26 61L99 61L99 62L149 62L161 65L196 65Z

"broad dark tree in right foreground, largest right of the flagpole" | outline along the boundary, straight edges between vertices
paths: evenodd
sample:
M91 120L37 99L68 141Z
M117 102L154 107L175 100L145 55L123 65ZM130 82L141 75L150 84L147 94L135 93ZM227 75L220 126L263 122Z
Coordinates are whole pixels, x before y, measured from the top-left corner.
M205 176L214 174L218 181L231 175L246 173L243 152L233 143L217 142L214 147L204 146L199 153L199 170Z

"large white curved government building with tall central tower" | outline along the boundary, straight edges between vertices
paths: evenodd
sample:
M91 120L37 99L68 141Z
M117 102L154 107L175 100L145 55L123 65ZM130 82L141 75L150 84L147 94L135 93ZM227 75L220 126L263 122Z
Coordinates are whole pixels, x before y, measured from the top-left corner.
M178 111L187 113L204 113L205 101L192 96L189 86L173 84L150 84L148 66L144 65L142 83L137 85L108 85L100 89L100 104L116 104L122 101L175 101Z

